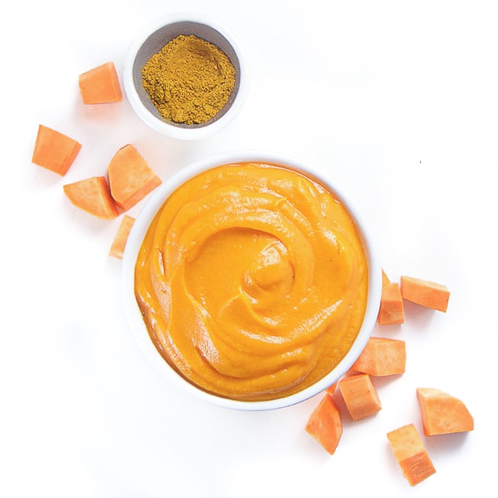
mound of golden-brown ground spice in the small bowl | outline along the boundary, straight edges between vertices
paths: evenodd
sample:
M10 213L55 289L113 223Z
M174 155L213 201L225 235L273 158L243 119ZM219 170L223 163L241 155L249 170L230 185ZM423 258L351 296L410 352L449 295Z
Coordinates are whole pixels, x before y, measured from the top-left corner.
M202 124L228 102L235 68L218 46L195 35L179 35L142 68L142 85L168 121Z

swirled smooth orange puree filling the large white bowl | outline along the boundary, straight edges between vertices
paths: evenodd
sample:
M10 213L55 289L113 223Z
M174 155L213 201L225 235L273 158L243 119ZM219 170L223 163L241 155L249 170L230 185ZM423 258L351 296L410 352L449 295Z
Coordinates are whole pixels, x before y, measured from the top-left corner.
M358 335L367 279L342 203L303 174L259 163L178 187L135 269L160 354L194 385L239 400L287 396L329 373Z

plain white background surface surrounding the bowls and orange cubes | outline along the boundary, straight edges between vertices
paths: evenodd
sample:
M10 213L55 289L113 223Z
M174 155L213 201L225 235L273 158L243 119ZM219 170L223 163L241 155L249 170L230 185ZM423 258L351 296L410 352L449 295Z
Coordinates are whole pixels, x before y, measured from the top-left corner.
M482 1L60 0L1 16L0 496L497 497L497 16ZM250 69L236 120L201 142L158 136L121 104L85 108L77 77L169 12L209 15ZM31 163L38 124L83 144L66 177ZM165 179L193 160L274 151L329 172L391 279L445 284L447 313L407 305L407 371L376 380L382 411L330 456L304 431L320 396L234 412L179 393L124 317L120 218L62 185L105 174L133 143ZM129 214L136 216L143 204ZM410 488L386 433L421 430L416 387L461 398L469 434L425 440L437 473ZM459 495L459 496L460 496Z

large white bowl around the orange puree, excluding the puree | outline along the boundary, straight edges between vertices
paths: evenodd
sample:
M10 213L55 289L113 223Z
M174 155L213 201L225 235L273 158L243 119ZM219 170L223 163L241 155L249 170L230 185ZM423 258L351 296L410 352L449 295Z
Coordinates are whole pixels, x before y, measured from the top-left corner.
M152 342L145 326L145 322L142 319L142 314L138 308L134 293L134 270L138 251L142 244L142 239L144 238L145 232L149 227L149 223L151 223L156 212L159 210L161 205L163 205L169 194L176 190L177 187L185 183L185 181L192 178L192 176L204 172L207 169L219 165L248 162L286 166L303 172L304 174L314 176L324 185L329 187L329 190L334 192L342 203L344 203L353 217L353 220L356 222L360 236L362 237L362 242L364 243L365 252L367 254L369 272L369 288L365 317L358 336L346 356L344 356L340 363L328 375L323 377L314 385L311 385L311 387L307 387L296 394L292 394L284 398L262 401L243 401L216 396L215 394L203 391L177 374L176 371L172 369L172 367L170 367L163 359ZM176 385L176 387L183 389L183 391L186 391L187 393L193 394L197 398L214 403L215 405L219 405L221 407L243 410L266 410L294 405L295 403L299 403L307 398L311 398L311 396L315 396L315 394L319 394L321 391L326 389L326 387L329 387L336 380L342 377L349 370L351 365L353 365L353 362L356 361L358 356L360 356L360 353L365 348L367 340L371 335L371 331L374 329L380 305L381 275L381 267L376 257L376 253L374 252L371 238L369 237L369 234L367 234L365 225L363 225L358 214L355 212L346 196L338 190L338 187L331 183L330 178L324 176L324 174L317 171L317 169L302 165L295 160L275 154L259 154L257 152L230 153L199 160L198 162L192 163L190 166L181 169L178 173L160 185L157 190L151 194L151 198L145 204L145 207L138 215L135 223L133 223L133 228L131 228L122 261L124 307L128 315L133 335L152 365L154 365L159 373L162 374L169 382L172 382L173 385Z

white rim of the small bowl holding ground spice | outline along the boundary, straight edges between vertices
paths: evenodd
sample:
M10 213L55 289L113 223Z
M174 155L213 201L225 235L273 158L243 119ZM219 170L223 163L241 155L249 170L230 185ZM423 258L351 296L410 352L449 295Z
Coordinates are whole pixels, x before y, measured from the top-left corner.
M208 26L212 30L216 30L221 37L225 38L228 44L232 46L239 63L239 88L237 89L237 94L234 96L232 104L220 118L203 127L177 127L174 124L169 124L164 120L160 120L142 103L142 100L140 100L140 96L138 95L138 91L136 90L136 86L133 83L133 64L135 63L136 56L142 47L142 44L144 44L152 34L161 28L164 28L169 24L177 24L181 22L202 24L204 26ZM154 129L154 131L178 140L202 139L227 126L228 123L230 123L235 116L237 116L246 100L248 94L248 80L249 77L246 60L234 36L229 33L226 28L218 24L214 19L210 19L210 17L204 15L188 12L177 12L174 14L163 15L149 21L148 24L143 26L128 48L127 54L124 57L122 69L124 93L127 95L131 108L136 113L138 118L145 122L145 124L147 124L151 129Z

